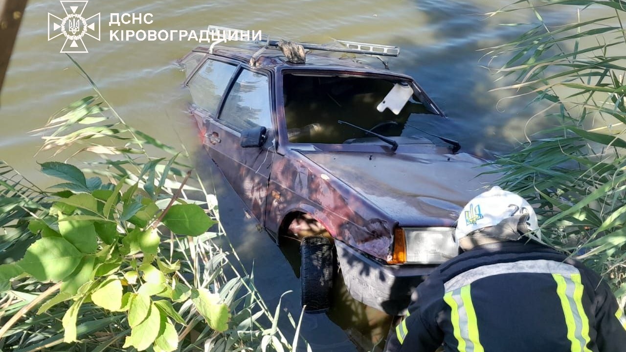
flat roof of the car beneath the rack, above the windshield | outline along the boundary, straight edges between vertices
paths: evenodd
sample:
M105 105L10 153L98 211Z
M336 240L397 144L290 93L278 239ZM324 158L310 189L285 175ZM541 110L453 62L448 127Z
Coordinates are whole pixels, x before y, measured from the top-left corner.
M237 60L245 64L250 63L250 59L261 49L261 46L242 44L240 46L215 46L212 54L215 56L222 56L223 58L229 58ZM198 46L193 51L200 53L211 53L208 46ZM337 56L337 53L322 52L322 51L309 51L306 54L306 63L298 64L291 63L284 56L282 51L275 48L265 48L256 58L257 67L265 67L277 70L279 68L317 68L317 69L339 69L339 70L353 70L367 71L372 73L381 73L384 75L400 75L393 71L384 70L382 68L375 68L366 63L359 61L358 58L361 55L351 54L350 57L344 58L333 57ZM362 58L363 56L361 56ZM404 75L402 75L404 76Z

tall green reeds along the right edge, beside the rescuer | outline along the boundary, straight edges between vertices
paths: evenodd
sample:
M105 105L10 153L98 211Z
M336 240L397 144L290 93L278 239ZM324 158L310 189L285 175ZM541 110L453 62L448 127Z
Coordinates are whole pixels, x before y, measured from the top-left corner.
M613 15L593 16L609 8ZM626 294L626 3L619 0L518 1L490 13L535 14L534 24L486 57L505 65L491 70L512 81L511 98L539 106L531 119L552 128L528 137L519 150L496 160L500 185L536 205L547 242L600 272ZM570 23L546 23L559 11ZM530 98L529 98L530 97Z

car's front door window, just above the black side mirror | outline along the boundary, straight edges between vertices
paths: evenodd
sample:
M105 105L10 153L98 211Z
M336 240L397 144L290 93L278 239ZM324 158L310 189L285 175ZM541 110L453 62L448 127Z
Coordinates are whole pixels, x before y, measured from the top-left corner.
M226 98L220 121L238 130L257 126L272 128L269 78L242 70Z

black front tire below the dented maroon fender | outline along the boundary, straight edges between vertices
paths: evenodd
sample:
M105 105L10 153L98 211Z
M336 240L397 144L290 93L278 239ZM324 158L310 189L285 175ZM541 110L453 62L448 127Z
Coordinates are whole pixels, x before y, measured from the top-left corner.
M304 237L300 243L300 303L304 311L321 312L331 307L334 256L330 239Z

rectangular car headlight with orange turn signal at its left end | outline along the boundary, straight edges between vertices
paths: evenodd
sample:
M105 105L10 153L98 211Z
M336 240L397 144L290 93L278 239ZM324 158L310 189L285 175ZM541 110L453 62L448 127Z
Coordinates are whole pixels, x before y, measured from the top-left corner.
M390 264L441 264L458 254L451 227L398 228Z

